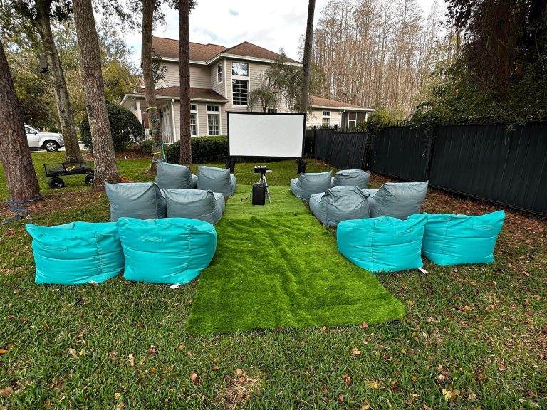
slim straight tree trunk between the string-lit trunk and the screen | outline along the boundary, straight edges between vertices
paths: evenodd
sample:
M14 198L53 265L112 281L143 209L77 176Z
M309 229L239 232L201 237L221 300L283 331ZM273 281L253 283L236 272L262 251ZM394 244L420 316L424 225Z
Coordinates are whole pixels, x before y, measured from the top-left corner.
M192 164L190 136L189 0L179 0L180 163Z

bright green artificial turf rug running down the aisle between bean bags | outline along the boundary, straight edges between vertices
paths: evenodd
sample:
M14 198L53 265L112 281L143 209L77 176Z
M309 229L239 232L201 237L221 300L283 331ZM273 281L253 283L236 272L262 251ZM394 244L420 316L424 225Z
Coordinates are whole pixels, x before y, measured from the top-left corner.
M199 277L187 330L356 325L405 314L375 275L347 261L333 233L288 187L272 204L251 206L239 186L217 224L217 253Z

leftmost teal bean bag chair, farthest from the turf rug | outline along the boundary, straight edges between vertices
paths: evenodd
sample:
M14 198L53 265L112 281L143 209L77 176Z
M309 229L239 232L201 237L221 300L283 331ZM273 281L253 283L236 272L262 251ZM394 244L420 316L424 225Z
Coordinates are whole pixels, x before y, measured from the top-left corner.
M26 224L32 238L36 283L101 283L121 273L123 252L113 222Z

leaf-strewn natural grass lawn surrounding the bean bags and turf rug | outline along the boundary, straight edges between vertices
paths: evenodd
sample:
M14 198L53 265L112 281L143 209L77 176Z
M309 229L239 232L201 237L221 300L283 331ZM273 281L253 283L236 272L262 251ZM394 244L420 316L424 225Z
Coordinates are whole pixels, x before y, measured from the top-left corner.
M46 186L41 164L62 154L33 159ZM147 159L122 159L120 174L150 181L147 165ZM251 167L236 167L240 184L256 179ZM271 185L286 186L296 176L293 162L269 167ZM326 168L313 162L308 169ZM371 186L384 181L374 176ZM428 274L378 275L405 303L399 322L196 336L187 333L187 320L207 271L178 290L122 278L96 286L33 283L25 222L108 219L104 194L80 177L67 185L43 189L41 209L0 226L0 409L547 406L544 220L508 212L492 265L426 263ZM2 180L0 199L6 198ZM227 204L227 215L234 205ZM437 191L424 204L428 212L492 209ZM192 373L199 381L192 382Z

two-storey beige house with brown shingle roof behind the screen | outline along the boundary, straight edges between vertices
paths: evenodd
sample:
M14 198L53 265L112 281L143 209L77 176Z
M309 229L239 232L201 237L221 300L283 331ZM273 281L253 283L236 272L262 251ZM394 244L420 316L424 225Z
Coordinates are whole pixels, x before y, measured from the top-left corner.
M164 141L170 143L180 137L179 41L152 37L152 48L163 71L163 78L157 83L156 99ZM226 112L248 111L249 92L259 87L264 71L279 55L246 41L231 48L200 43L190 43L189 48L192 136L226 135ZM286 64L301 67L301 63L290 58ZM135 113L147 127L144 90L125 95L121 105ZM307 125L337 125L352 130L371 111L374 110L312 95ZM268 112L291 110L281 102Z

